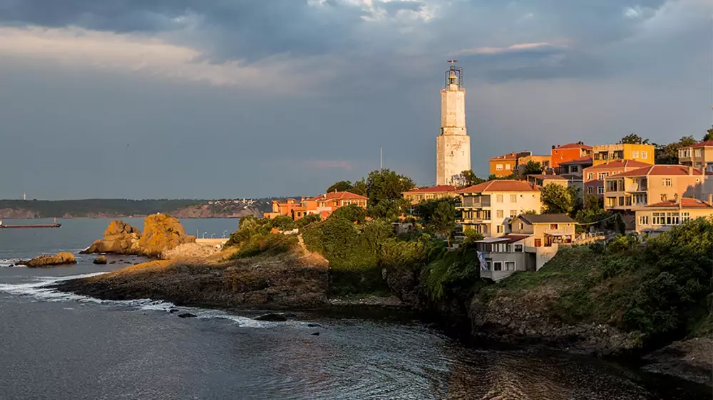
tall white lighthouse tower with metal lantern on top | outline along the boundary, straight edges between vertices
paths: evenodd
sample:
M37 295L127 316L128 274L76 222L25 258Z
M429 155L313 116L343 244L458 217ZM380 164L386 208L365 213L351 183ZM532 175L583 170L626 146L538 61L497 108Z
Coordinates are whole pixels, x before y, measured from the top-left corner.
M471 169L471 138L466 131L466 90L463 68L449 60L446 85L441 90L441 134L436 138L436 184L458 184L461 172Z

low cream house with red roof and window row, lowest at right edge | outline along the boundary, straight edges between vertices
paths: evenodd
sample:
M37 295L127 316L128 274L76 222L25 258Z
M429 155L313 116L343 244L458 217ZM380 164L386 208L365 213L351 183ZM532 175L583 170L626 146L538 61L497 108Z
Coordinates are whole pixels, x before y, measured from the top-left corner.
M636 210L636 231L655 235L704 216L713 216L713 194L707 201L687 197L661 201Z

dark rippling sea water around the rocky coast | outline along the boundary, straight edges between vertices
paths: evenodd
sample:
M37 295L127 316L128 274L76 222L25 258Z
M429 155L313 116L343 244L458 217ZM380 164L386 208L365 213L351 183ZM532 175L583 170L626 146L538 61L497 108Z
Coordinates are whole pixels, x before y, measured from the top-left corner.
M710 388L593 357L466 341L401 313L255 312L103 301L58 293L60 280L140 258L79 255L108 219L0 229L0 399L711 399ZM140 219L125 219L143 228ZM49 221L5 221L43 223ZM185 219L220 238L235 219ZM78 263L10 266L71 251ZM317 335L319 334L319 335Z

